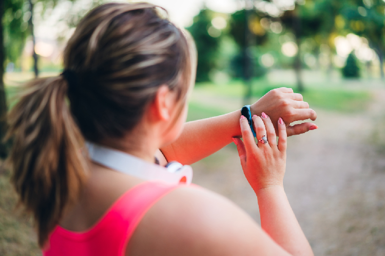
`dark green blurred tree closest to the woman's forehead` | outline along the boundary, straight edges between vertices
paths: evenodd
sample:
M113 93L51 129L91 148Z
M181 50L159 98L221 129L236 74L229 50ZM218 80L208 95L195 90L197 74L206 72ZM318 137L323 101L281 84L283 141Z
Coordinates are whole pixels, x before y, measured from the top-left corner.
M194 24L187 28L195 40L198 51L197 82L209 81L209 73L217 67L220 38L209 35L214 12L203 9L194 17Z

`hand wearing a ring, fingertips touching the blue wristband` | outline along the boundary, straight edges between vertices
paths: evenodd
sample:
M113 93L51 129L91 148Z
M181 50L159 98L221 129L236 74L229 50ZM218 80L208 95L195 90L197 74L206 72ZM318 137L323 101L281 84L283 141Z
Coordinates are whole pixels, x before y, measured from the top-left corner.
M279 140L277 144L274 125L270 118L253 116L257 139L267 136L268 142L256 144L247 119L241 116L240 125L243 141L233 138L237 145L243 173L255 192L271 186L283 186L286 167L286 126L282 118L278 120Z

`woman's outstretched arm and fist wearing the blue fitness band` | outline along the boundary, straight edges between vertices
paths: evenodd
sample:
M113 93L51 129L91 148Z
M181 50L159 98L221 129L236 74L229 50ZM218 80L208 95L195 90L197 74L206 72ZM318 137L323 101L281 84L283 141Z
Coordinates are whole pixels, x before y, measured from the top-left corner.
M314 121L317 118L316 112L303 101L302 95L293 93L290 88L269 91L251 105L250 109L252 116L261 116L262 112L266 113L276 125L279 117L286 124L306 119ZM166 160L168 162L178 161L182 164L195 163L232 142L233 137L241 137L240 116L241 111L237 110L222 116L187 122L181 136L161 148L157 157L161 164L164 164ZM277 127L275 128L278 131ZM287 136L292 136L317 128L314 123L304 122L287 126L286 132Z

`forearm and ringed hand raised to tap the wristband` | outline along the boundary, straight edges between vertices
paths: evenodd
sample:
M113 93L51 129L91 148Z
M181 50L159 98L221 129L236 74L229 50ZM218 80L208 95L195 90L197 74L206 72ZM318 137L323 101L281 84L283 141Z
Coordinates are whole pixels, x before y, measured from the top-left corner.
M253 116L257 138L267 136L268 143L255 143L247 119L240 119L243 141L234 138L245 177L253 187L259 205L261 226L282 248L293 255L312 255L294 212L283 189L286 168L286 129L278 120L277 143L274 126L270 118L262 113Z

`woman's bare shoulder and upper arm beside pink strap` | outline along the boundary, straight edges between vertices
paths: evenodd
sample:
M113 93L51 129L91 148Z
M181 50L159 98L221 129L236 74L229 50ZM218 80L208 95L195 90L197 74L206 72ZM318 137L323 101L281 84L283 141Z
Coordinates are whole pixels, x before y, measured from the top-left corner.
M181 186L148 210L126 255L288 254L233 202L201 187Z

